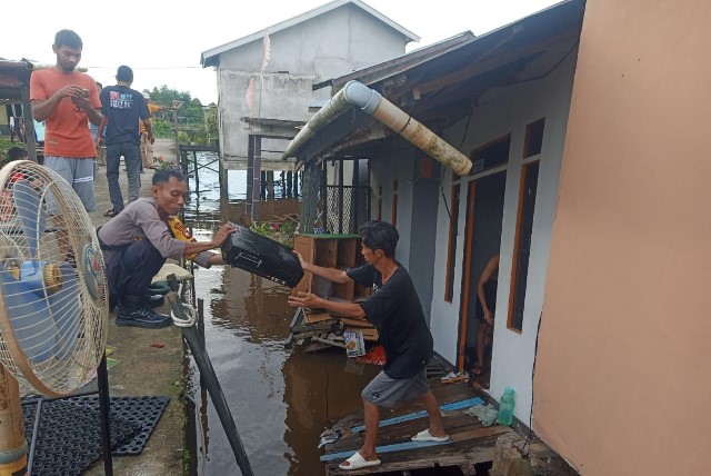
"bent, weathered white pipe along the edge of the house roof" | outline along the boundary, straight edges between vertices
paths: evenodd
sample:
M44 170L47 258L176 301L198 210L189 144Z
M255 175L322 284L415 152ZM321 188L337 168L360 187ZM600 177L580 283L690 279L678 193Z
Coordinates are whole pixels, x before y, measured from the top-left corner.
M454 173L464 176L471 170L471 160L467 156L383 98L378 91L359 81L347 82L343 89L338 91L321 110L313 115L297 137L289 142L283 158L293 157L301 146L351 106L359 107L363 112L388 126L444 167L452 169Z

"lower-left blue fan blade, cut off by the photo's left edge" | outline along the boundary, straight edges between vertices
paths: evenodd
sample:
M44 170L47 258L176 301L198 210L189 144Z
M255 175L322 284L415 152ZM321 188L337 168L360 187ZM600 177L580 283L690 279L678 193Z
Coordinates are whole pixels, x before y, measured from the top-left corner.
M26 357L34 363L52 357L57 333L47 300L28 289L26 282L14 279L1 265L0 288L8 319ZM7 336L4 340L9 338Z

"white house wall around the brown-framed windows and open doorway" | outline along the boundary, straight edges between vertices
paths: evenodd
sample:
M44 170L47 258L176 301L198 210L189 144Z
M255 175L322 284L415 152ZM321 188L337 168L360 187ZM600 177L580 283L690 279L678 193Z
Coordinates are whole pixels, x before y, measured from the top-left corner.
M528 424L531 410L531 370L538 323L543 301L545 271L550 249L550 232L558 197L558 179L565 137L565 126L570 106L575 54L571 54L548 77L495 89L480 98L479 107L471 119L462 151L469 151L507 133L511 133L511 149L507 167L507 188L504 195L503 227L501 237L501 261L499 267L499 288L494 326L493 359L490 394L499 398L504 387L513 387L515 395L515 416ZM511 265L515 220L521 178L523 141L525 126L544 117L545 129L540 155L538 195L535 201L531 258L529 262L528 286L524 303L523 329L515 333L507 328L509 289L511 285ZM462 120L445 131L444 139L451 143L461 140L464 133ZM444 189L451 189L451 172L448 173ZM469 179L464 180L464 184ZM449 192L445 192L449 197ZM465 245L467 187L462 186L459 204L459 236L454 258L454 296L452 303L445 303L444 270L449 239L449 218L440 199L438 239L435 245L435 269L431 309L431 328L434 337L434 350L451 363L457 361L457 341L461 309L462 262ZM478 279L478 277L472 277Z

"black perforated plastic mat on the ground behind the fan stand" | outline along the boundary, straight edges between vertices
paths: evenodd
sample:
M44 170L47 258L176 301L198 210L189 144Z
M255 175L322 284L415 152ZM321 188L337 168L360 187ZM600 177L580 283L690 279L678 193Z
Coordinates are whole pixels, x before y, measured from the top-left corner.
M113 455L140 455L168 397L112 397L111 447ZM28 445L34 427L36 401L22 404ZM80 475L102 456L97 396L42 401L32 475Z

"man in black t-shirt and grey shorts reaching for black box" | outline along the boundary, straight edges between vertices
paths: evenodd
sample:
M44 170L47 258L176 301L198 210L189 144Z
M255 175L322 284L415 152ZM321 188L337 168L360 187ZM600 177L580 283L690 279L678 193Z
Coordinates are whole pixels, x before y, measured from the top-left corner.
M398 230L384 221L368 221L360 229L365 265L346 271L323 268L306 262L299 255L304 271L334 282L357 281L372 286L373 295L363 303L337 303L310 292L289 297L291 306L323 308L356 319L374 324L385 350L383 370L361 393L364 407L365 438L353 456L339 465L341 469L358 469L380 464L375 452L380 408L420 398L424 404L430 426L412 437L414 442L449 440L442 426L437 399L427 381L425 366L432 358L432 335L424 320L422 305L412 279L394 259Z

